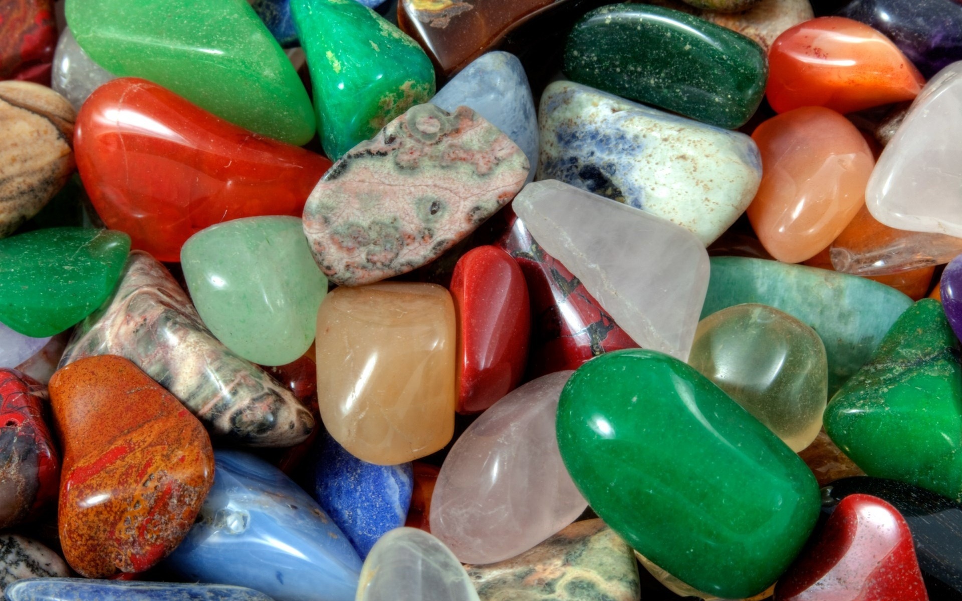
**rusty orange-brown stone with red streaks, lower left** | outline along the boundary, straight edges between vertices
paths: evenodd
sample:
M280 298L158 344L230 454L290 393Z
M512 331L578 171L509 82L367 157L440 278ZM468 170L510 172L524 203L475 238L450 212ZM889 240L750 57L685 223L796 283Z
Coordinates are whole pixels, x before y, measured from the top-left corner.
M60 540L88 578L142 572L187 535L214 484L197 418L126 359L70 363L50 380L63 444Z

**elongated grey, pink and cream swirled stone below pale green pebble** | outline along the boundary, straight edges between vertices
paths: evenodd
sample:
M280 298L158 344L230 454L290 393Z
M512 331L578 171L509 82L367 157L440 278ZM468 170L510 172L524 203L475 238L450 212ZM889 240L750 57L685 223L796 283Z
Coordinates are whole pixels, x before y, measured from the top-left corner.
M291 446L314 418L263 369L204 327L164 265L135 251L114 297L74 330L61 364L119 355L180 399L212 436L251 446Z

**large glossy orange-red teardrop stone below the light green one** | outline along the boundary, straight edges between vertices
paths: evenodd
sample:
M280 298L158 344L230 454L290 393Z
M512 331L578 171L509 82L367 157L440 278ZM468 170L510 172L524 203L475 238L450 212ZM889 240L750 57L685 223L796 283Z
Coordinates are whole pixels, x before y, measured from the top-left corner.
M121 78L77 115L77 168L107 227L180 261L187 238L241 217L300 217L331 162L207 113L156 84Z

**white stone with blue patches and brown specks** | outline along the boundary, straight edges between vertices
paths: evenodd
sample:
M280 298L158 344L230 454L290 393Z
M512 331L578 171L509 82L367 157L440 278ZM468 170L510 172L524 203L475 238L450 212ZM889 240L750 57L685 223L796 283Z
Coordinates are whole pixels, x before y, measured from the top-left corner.
M762 178L745 134L572 82L545 88L539 123L539 180L664 217L706 246L745 212Z

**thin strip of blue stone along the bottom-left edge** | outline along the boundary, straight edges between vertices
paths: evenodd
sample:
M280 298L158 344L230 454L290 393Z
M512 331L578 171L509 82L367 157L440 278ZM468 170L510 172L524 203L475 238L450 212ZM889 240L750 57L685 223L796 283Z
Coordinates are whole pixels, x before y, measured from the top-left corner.
M30 578L4 592L8 601L271 601L243 587L84 578Z

